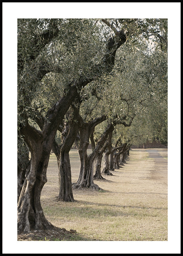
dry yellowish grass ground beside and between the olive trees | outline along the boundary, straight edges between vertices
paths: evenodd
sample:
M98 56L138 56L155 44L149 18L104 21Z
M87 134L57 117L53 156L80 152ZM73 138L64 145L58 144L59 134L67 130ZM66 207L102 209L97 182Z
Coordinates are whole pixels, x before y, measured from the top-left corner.
M163 158L133 149L123 168L106 180L94 181L104 191L73 190L76 202L57 202L58 168L50 157L41 194L45 216L55 226L75 229L77 240L167 241L167 149L155 149ZM79 174L77 150L70 152L72 182Z

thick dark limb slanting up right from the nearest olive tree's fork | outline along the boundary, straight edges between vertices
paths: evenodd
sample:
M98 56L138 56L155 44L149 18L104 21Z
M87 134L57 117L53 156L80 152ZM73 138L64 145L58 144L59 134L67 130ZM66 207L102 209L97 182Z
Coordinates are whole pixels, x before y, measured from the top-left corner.
M68 87L69 90L65 95L63 95L55 105L48 110L46 117L49 122L44 124L44 129L47 131L57 130L58 126L61 123L61 119L63 119L65 113L69 109L71 103L74 98L80 92L80 90L85 87L88 83L92 82L97 76L101 76L103 73L109 72L113 69L114 61L115 61L115 53L116 50L126 41L126 35L123 31L118 32L115 37L110 38L107 42L107 49L104 58L102 59L105 63L105 67L101 65L95 65L94 67L94 75L90 77L84 77L82 74L80 78L76 81L72 81ZM46 71L42 69L41 75L43 75ZM41 77L40 77L41 78ZM52 128L51 128L52 127Z

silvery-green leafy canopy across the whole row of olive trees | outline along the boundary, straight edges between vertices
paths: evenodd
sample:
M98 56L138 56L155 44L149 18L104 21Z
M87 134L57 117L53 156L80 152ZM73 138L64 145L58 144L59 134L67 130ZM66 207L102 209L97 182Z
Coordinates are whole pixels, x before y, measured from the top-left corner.
M93 75L93 82L80 93L83 100L80 114L84 120L102 114L110 120L136 115L146 120L141 122L142 126L135 121L136 117L132 126L133 129L141 127L145 136L142 141L159 138L166 143L167 19L103 21L18 19L18 127L28 120L37 122L45 118L48 109L67 92L71 81ZM113 34L121 28L127 41L116 53L114 69L110 74L97 77L97 72L100 74L104 68L104 41L109 32ZM98 71L94 68L96 65ZM106 122L97 126L96 138ZM117 131L116 138L118 136ZM140 143L134 139L137 136L140 135L135 130L128 135L129 140ZM58 134L56 139L60 140Z

